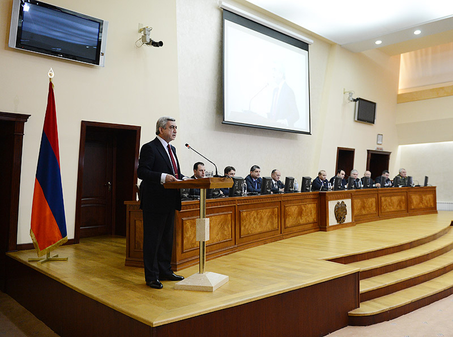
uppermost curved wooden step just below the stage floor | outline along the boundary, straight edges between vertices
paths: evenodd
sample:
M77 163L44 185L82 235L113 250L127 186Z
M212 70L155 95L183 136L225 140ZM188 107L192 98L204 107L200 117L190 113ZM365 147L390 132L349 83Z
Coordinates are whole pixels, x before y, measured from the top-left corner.
M348 263L360 268L360 280L413 266L453 250L453 230L439 239L402 252Z

